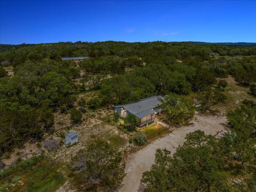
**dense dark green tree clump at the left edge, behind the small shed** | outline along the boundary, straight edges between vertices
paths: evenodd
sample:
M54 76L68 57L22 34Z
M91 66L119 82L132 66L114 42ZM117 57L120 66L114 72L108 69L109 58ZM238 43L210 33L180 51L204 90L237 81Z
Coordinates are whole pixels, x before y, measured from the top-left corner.
M55 61L26 61L15 76L0 78L0 154L53 131L53 111L75 101L71 76Z

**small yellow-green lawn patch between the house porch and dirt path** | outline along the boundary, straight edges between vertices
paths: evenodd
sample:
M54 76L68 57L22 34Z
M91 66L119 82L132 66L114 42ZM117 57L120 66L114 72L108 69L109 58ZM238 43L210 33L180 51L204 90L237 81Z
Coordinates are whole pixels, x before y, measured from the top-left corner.
M168 131L169 129L167 127L161 126L159 124L152 124L139 130L139 132L143 132L147 136L147 139L157 138L167 133Z

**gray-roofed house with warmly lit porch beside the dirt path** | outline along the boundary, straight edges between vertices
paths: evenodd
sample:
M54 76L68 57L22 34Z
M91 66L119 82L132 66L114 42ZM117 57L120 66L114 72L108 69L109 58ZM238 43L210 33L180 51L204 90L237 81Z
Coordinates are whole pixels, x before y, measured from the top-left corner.
M150 125L156 122L156 114L161 113L162 109L158 106L162 104L159 99L164 99L162 96L153 96L146 99L141 99L138 102L127 103L124 105L115 106L115 113L118 113L121 118L129 114L135 115L139 120L139 126Z

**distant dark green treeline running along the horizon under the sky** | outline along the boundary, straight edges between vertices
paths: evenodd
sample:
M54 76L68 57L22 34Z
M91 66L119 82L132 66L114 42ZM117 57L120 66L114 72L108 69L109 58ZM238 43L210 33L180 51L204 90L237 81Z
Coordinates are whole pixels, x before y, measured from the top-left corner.
M0 54L0 62L7 61L11 65L19 65L27 59L41 60L49 58L60 60L61 57L89 56L98 58L107 55L116 55L127 58L137 56L148 60L159 57L159 55L171 56L176 59L186 59L189 56L199 55L205 60L209 58L210 53L219 55L256 55L256 46L254 47L229 47L221 45L197 45L193 43L126 43L126 42L76 42L76 43L53 43L37 44L25 46L21 44L12 47ZM0 46L4 49L5 45Z

